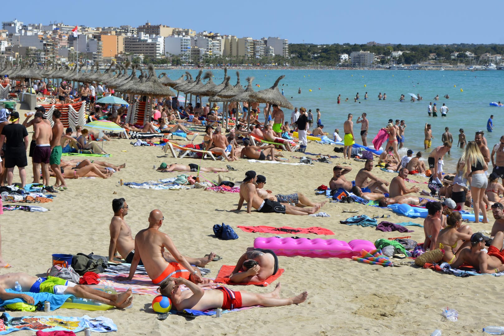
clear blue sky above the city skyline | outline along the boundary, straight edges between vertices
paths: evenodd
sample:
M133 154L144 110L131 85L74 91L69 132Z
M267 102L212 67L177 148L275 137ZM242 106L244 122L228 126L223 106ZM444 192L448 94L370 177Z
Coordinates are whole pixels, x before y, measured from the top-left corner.
M279 36L291 43L504 43L504 34L499 33L498 2L492 5L469 0L411 3L396 0L179 3L121 0L62 2L49 7L40 4L32 0L7 1L2 5L2 21L15 18L25 24L62 21L89 27L137 27L149 21L254 39Z

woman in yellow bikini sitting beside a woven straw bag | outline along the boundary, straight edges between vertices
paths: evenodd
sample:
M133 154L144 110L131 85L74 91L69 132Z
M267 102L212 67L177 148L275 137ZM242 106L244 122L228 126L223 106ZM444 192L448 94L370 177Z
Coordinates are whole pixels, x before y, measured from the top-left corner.
M462 248L471 246L471 235L471 227L462 225L462 215L458 211L450 213L447 227L439 232L435 244L436 248L445 250L443 261L454 263Z

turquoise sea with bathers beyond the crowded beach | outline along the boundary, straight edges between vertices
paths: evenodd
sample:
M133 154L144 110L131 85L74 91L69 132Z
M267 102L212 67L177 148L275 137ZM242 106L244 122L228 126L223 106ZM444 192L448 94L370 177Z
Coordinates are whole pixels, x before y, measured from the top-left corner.
M158 74L166 72L170 78L177 79L183 70L157 70ZM198 70L189 71L196 77ZM224 76L223 70L212 70L214 82L220 83ZM450 156L445 157L445 171L455 167L462 151L455 148L458 141L459 128L464 128L466 139L474 140L477 130L484 130L488 147L492 148L504 135L504 107L489 106L490 102L504 102L504 71L408 71L408 70L240 70L240 81L245 87L245 78L255 77L256 91L269 88L275 80L285 75L279 89L284 90L285 97L295 107L304 106L314 113L316 108L322 112L324 130L331 135L335 128L343 132L343 122L348 113L354 115L354 134L360 143L360 125L355 123L357 116L367 113L369 119L368 144L381 127L392 119L404 119L406 122L405 147L400 154L412 149L415 153L423 153L423 129L425 123L432 125L432 147L441 145L441 136L445 127L450 127L454 137L454 149ZM236 71L228 71L231 84L236 83ZM301 94L298 89L301 88ZM311 90L311 92L309 91ZM353 98L359 93L360 100ZM369 99L364 100L367 92ZM379 92L387 93L387 100L378 100ZM420 94L423 100L410 102L408 93ZM336 98L341 94L341 104L336 104ZM399 102L401 94L406 101ZM443 98L448 94L450 99ZM439 101L432 100L439 95ZM292 98L291 98L292 97ZM344 100L348 98L348 102ZM205 98L204 98L205 102ZM437 103L438 117L428 117L427 105ZM440 117L439 108L446 103L448 116ZM284 109L286 120L290 120L291 110ZM493 114L494 130L486 131L486 122ZM309 147L309 145L308 145ZM432 150L432 148L430 149ZM428 150L429 151L429 150ZM423 155L426 157L427 155Z

